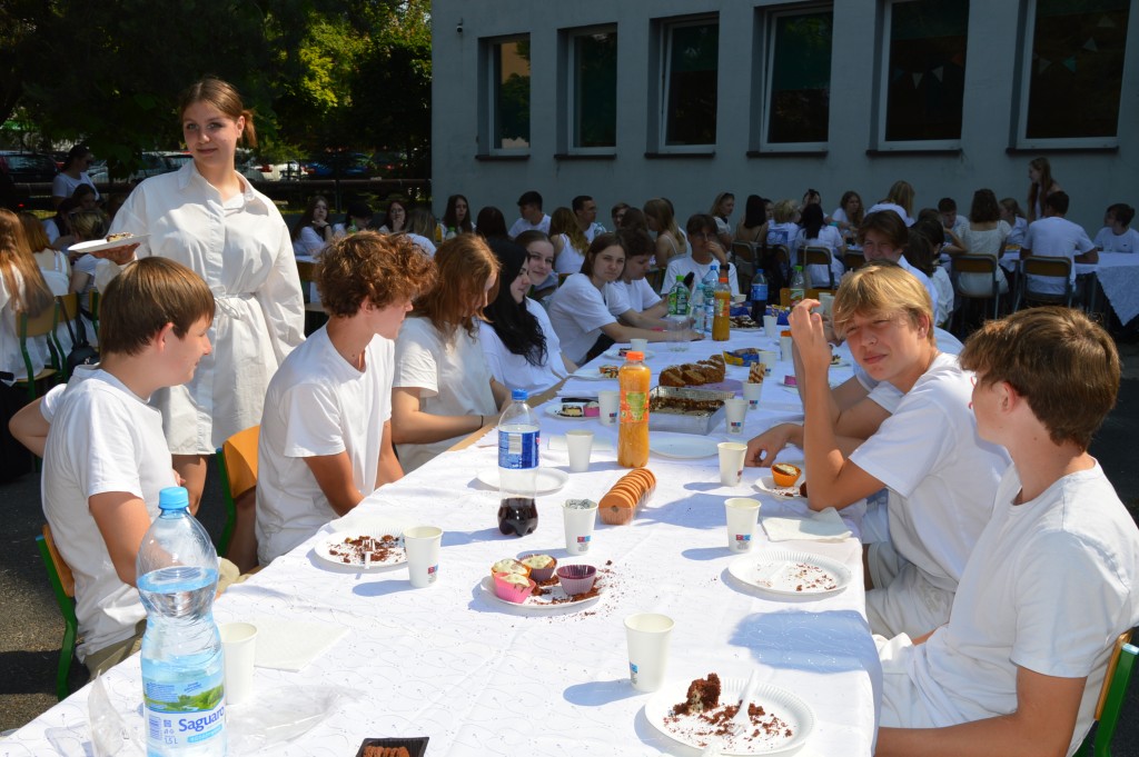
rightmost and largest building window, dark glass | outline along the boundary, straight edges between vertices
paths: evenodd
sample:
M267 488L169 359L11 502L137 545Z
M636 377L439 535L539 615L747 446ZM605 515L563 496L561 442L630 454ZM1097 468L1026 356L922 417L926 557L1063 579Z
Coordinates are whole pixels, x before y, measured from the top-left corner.
M1025 139L1116 137L1129 6L1128 0L1036 0L1024 60Z

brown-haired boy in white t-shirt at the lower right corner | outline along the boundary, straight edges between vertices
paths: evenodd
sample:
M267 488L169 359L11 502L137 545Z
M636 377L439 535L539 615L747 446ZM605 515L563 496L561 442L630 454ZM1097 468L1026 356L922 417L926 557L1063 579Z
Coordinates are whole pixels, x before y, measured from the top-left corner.
M1013 464L949 623L877 640L876 755L1072 755L1116 636L1139 624L1139 530L1088 454L1120 359L1083 313L1041 307L985 323L961 364L977 434Z

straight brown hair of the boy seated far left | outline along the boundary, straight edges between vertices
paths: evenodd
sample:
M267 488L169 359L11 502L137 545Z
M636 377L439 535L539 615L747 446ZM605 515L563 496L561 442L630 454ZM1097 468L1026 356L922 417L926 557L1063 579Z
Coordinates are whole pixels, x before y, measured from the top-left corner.
M99 306L99 351L138 355L167 323L181 339L195 322L213 316L213 293L202 277L169 258L144 257L107 285Z

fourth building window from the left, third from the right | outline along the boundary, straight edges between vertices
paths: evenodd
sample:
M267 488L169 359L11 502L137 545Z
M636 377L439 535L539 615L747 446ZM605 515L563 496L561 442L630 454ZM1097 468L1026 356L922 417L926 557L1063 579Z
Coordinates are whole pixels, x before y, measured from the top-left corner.
M827 141L833 19L829 9L772 16L767 142Z

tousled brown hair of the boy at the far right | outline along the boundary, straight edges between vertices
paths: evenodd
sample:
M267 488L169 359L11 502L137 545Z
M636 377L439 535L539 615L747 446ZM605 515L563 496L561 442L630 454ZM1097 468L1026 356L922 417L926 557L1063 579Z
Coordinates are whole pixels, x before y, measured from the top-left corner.
M978 384L1008 381L1054 444L1072 442L1081 451L1115 406L1120 388L1112 337L1068 307L1033 307L989 321L966 342L960 361Z

